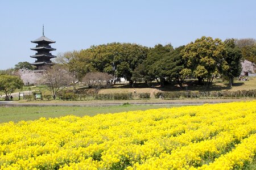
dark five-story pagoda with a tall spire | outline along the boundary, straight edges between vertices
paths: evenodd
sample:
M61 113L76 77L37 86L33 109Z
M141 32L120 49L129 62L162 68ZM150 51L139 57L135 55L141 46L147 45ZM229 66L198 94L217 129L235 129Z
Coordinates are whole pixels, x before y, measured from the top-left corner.
M31 42L38 44L35 48L31 48L31 50L35 50L37 52L34 56L30 56L32 58L36 58L36 61L31 63L31 65L36 66L38 70L44 70L55 64L51 61L51 58L55 58L56 56L53 56L50 52L56 49L51 48L49 44L55 43L56 41L52 41L44 36L44 26L43 36Z

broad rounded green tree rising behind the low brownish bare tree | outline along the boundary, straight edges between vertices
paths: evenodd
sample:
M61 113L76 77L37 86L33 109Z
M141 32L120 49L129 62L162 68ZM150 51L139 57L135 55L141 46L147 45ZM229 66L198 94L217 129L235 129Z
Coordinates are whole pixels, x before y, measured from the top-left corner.
M131 84L134 69L142 63L147 56L145 46L113 42L92 46L88 49L92 53L93 67L100 72L126 78Z

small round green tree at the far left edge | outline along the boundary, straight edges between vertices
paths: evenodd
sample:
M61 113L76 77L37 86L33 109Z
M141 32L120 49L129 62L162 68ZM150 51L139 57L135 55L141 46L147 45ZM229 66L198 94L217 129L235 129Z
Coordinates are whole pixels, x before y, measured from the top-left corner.
M0 91L5 93L5 100L10 100L10 96L14 90L23 86L24 84L19 76L0 75Z

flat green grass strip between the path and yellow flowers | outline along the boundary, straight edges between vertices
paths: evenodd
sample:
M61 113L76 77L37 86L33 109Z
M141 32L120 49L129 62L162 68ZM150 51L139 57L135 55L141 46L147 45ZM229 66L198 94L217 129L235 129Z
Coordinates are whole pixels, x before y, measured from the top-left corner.
M171 105L117 105L110 107L0 107L0 123L21 120L36 120L40 117L61 117L73 114L75 116L94 116L99 113L118 113L154 108L170 108Z

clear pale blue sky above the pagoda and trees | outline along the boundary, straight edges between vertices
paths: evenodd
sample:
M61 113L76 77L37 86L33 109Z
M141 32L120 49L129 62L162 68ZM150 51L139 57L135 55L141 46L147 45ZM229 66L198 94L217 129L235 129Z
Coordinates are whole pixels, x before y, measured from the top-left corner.
M256 39L256 1L0 1L0 69L34 62L44 35L52 54L109 42L186 45L201 36Z

